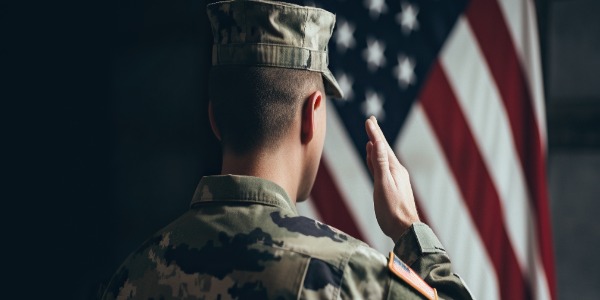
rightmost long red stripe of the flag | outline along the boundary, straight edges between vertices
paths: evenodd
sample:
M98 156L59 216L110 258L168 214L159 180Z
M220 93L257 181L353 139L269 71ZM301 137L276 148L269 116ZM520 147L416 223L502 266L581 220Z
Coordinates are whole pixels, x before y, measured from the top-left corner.
M533 101L519 55L495 0L471 1L467 12L506 107L515 146L535 207L538 244L550 294L556 299L554 254L546 186L545 158Z

